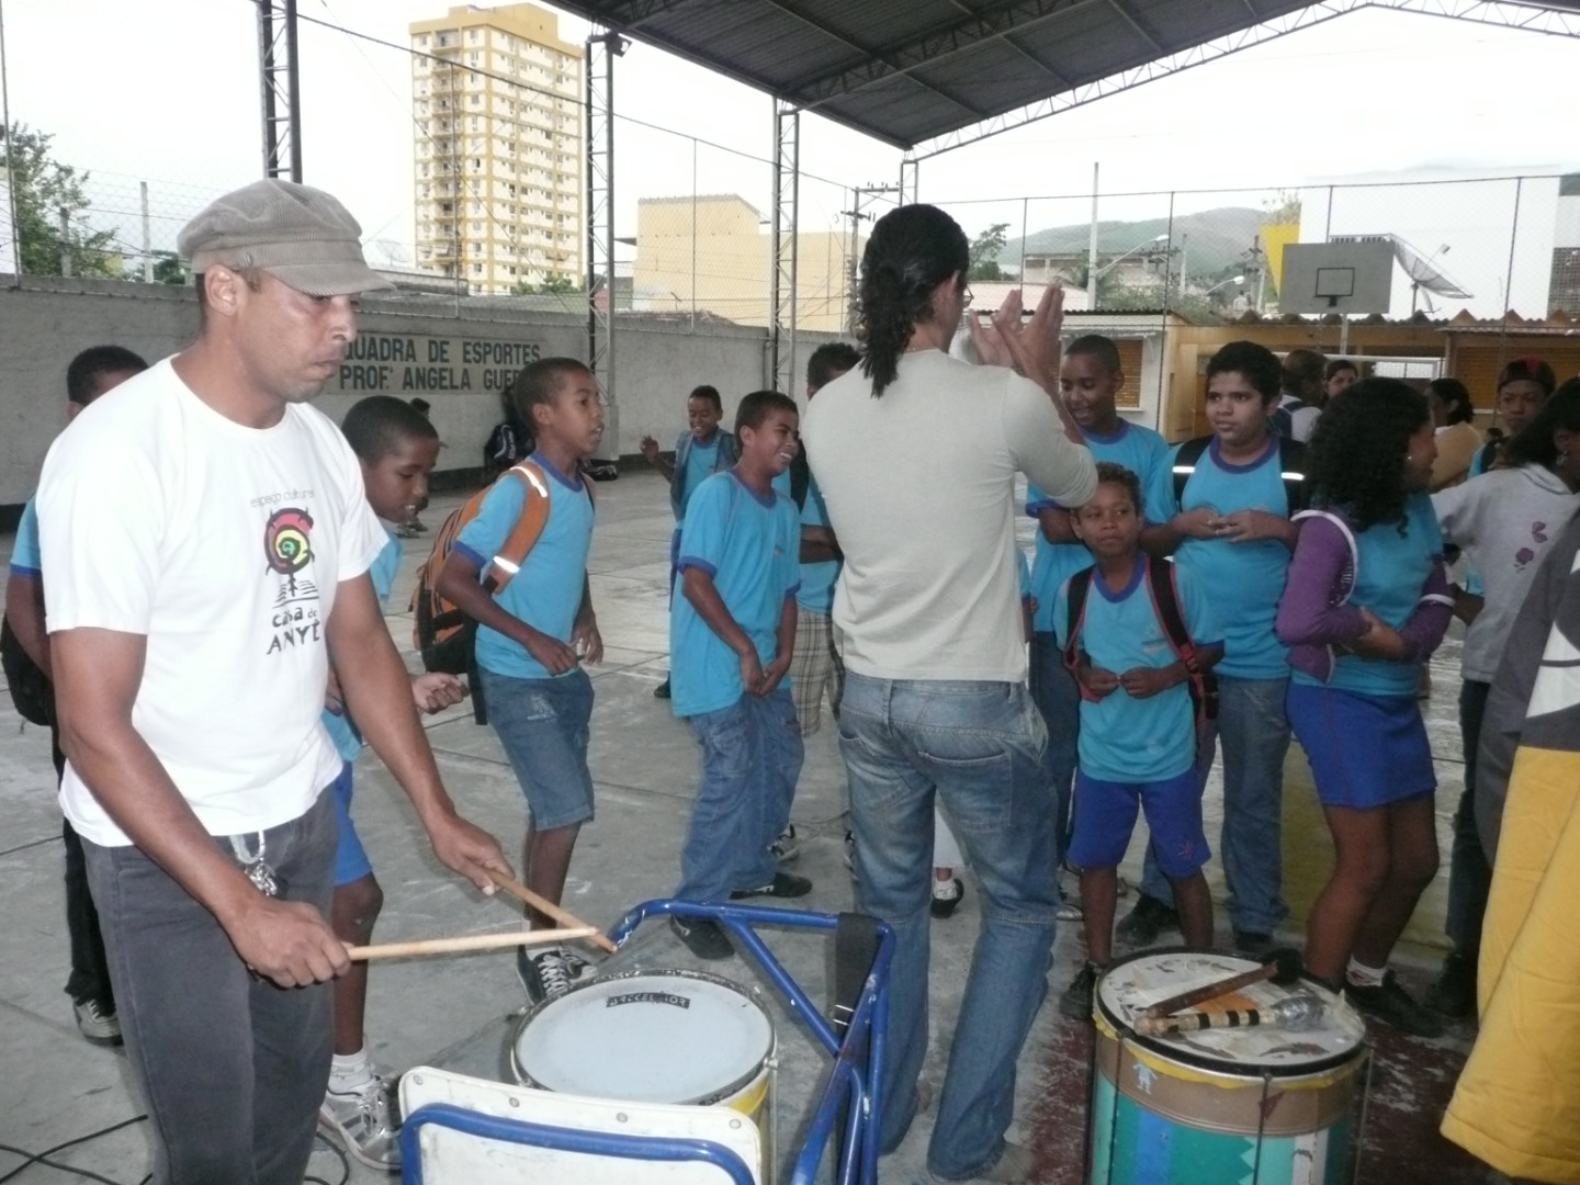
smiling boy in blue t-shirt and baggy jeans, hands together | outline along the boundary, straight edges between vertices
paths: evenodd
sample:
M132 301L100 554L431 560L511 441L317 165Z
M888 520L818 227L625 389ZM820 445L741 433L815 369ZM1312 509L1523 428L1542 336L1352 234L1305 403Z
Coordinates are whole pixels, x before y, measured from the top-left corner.
M743 398L739 463L703 482L686 510L670 662L675 714L702 746L702 787L681 852L681 901L799 897L812 888L777 871L773 853L803 760L784 686L795 651L799 528L795 502L773 487L796 455L796 420L788 395ZM713 921L672 916L670 927L702 959L733 954Z

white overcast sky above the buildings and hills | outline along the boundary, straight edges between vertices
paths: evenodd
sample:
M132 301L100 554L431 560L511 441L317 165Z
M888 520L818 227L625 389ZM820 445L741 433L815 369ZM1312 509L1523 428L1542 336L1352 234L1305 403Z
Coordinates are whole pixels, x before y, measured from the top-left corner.
M300 0L303 16L408 41L444 3ZM98 174L106 204L136 205L149 180L155 239L207 196L261 171L256 8L250 0L3 0L13 120L54 133L57 155ZM586 27L561 19L561 35ZM305 180L337 193L371 240L409 243L411 63L404 52L302 25ZM1022 194L1071 194L1040 224L1081 221L1092 164L1111 193L1255 186L1180 209L1258 205L1311 179L1419 167L1555 171L1577 161L1567 126L1580 43L1520 30L1362 11L921 166L921 198L957 205L969 231L1018 218ZM616 111L755 156L769 101L698 66L635 46L618 63ZM694 153L673 134L621 125L619 234L638 196L690 193ZM822 118L803 125L803 167L839 183L891 182L899 153ZM768 166L702 147L697 186L766 205ZM803 226L839 221L845 194L809 180ZM1161 199L1111 202L1160 212ZM1019 226L1014 228L1019 232ZM392 246L398 251L398 246ZM409 251L409 248L406 248ZM378 256L374 256L378 258Z

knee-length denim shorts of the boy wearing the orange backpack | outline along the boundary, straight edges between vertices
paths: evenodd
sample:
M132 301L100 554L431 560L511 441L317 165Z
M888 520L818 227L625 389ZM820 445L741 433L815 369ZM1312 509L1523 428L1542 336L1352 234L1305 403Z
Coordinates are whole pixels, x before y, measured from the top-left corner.
M588 725L592 679L577 667L558 679L517 679L483 668L488 724L526 795L532 826L553 831L592 818Z

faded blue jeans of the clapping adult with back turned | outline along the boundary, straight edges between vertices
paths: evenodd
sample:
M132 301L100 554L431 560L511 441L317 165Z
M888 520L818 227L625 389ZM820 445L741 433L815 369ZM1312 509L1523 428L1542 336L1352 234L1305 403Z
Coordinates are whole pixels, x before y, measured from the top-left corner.
M1019 684L845 673L839 747L850 774L858 907L893 926L896 939L883 1152L910 1127L927 1052L935 795L986 902L927 1149L927 1166L940 1177L973 1177L1003 1155L1014 1060L1048 994L1059 891L1046 741Z

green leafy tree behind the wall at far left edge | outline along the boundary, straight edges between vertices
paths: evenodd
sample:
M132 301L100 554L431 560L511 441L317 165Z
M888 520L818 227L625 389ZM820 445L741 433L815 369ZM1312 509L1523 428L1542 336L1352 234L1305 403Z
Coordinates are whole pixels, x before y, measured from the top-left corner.
M9 177L16 205L17 270L63 275L62 262L70 261L73 275L118 278L114 232L95 231L82 216L90 207L82 188L88 174L54 160L52 141L54 136L32 131L25 123L0 126L0 174Z

